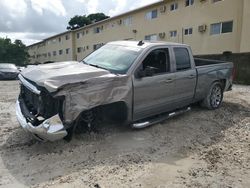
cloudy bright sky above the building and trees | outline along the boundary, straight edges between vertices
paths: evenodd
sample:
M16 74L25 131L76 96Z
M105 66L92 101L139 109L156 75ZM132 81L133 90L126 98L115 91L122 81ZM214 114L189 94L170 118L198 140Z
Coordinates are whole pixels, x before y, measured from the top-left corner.
M115 16L159 0L0 0L0 37L26 45L66 31L70 18L103 12Z

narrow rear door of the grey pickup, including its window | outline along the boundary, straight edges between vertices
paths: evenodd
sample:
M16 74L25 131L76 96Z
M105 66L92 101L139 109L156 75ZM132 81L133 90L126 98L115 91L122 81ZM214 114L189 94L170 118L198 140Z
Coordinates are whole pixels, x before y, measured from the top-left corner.
M173 52L176 62L175 106L180 108L192 103L197 73L187 48L174 47Z

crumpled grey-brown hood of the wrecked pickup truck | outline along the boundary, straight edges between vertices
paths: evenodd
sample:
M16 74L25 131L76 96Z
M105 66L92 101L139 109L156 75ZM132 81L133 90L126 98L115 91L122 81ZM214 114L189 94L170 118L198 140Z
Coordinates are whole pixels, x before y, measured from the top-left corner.
M76 61L37 65L24 69L21 75L37 85L55 92L67 84L85 82L110 74L108 71Z

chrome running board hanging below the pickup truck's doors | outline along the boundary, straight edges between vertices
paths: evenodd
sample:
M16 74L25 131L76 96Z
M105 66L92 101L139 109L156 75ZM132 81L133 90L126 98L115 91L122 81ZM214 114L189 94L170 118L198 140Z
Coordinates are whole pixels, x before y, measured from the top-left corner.
M172 112L172 113L169 113L169 114L161 115L160 117L152 118L151 120L148 120L148 121L134 123L134 124L132 124L132 128L134 128L134 129L143 129L143 128L146 128L148 126L160 123L160 122L162 122L164 120L167 120L167 119L169 119L171 117L178 116L180 114L188 112L190 110L191 110L191 107L187 107L187 108L183 108L183 109L180 109L178 111L175 111L175 112Z

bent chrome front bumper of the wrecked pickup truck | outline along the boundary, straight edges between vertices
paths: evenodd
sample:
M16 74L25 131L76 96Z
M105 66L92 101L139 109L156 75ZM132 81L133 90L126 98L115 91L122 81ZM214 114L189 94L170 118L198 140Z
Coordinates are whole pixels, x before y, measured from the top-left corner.
M30 132L39 141L53 142L64 138L68 134L60 120L59 115L45 120L38 126L33 126L24 117L20 107L20 102L18 100L16 102L16 115L17 120L23 129L25 129L27 132Z

